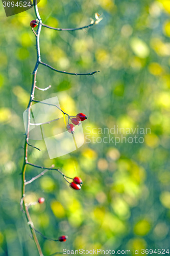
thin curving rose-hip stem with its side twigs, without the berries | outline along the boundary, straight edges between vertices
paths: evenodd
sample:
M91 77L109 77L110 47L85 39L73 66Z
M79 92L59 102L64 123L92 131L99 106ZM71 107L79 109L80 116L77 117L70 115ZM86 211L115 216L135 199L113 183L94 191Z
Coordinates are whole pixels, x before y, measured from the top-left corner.
M36 76L37 76L37 71L38 71L38 67L39 65L43 65L43 66L46 66L47 68L50 68L56 72L59 72L59 73L64 73L64 74L68 74L68 75L93 75L99 71L94 71L94 72L91 72L91 73L69 73L69 72L65 72L65 71L59 71L53 67L51 67L50 65L44 63L41 61L41 54L40 54L40 32L41 32L41 28L42 26L43 27L47 27L47 28L50 28L50 29L55 29L55 28L52 28L52 27L49 27L47 25L44 25L42 24L42 20L41 20L41 17L39 15L39 12L38 12L38 7L37 7L37 0L33 0L33 6L34 6L34 11L35 11L35 15L37 17L37 23L38 23L38 28L37 28L37 31L35 32L34 29L33 32L34 32L34 35L36 37L36 54L37 54L37 60L36 60L36 63L35 63L35 67L34 67L34 70L33 70L33 73L32 73L32 76L33 76L33 79L32 79L32 87L31 87L31 94L30 94L30 100L29 100L29 104L28 104L28 108L27 108L27 131L26 131L26 139L25 139L25 145L24 145L24 158L23 158L23 165L22 165L22 186L21 186L21 201L20 201L20 208L21 210L25 213L25 216L26 216L26 219L27 219L27 222L28 222L28 225L30 226L30 230L31 230L31 233L32 233L32 238L35 242L35 245L37 247L37 250L39 252L39 256L43 256L43 253L42 253L42 250L41 250L41 247L40 247L40 244L38 242L38 239L37 239L37 236L36 236L36 232L41 234L39 231L37 231L35 228L34 228L34 224L31 220L31 216L29 214L29 205L27 205L26 203L26 185L27 184L30 184L32 183L34 180L38 179L39 177L41 177L43 174L45 174L48 170L57 170L57 172L59 172L63 178L65 179L66 182L70 183L67 179L72 179L72 178L69 178L67 176L65 176L59 169L54 169L54 168L45 168L43 166L39 166L39 165L36 165L36 164L32 164L28 161L28 146L31 146L31 147L34 147L36 148L37 150L40 150L40 148L38 147L35 147L33 145L31 145L29 143L29 132L30 132L30 125L33 125L30 121L31 121L31 107L32 107L32 104L33 102L39 102L39 103L43 103L43 104L47 104L47 105L53 105L53 106L56 106L64 115L67 115L68 116L68 119L71 117L69 116L67 113L65 113L64 111L62 111L58 105L55 105L55 104L50 104L50 103L45 103L45 102L41 102L41 101L37 101L37 100L34 100L34 94L35 94L35 89L38 89L40 91L46 91L48 90L49 88L51 88L51 86L48 86L44 89L42 88L39 88L36 86ZM56 29L56 30L63 30L63 31L66 31L66 30L69 30L69 31L74 31L74 30L80 30L80 29L84 29L84 28L89 28L93 26L93 23L91 23L90 25L88 26L85 26L85 27L81 27L81 28L77 28L77 29ZM56 119L57 120L57 119ZM52 120L52 121L55 121L55 120ZM52 121L49 121L49 122L46 122L46 123L50 123ZM45 123L44 123L45 124ZM30 181L26 181L26 168L27 168L27 165L31 165L33 167L36 167L36 168L40 168L40 169L44 169L43 172L41 172L39 175L33 177ZM41 236L43 236L41 234ZM44 236L43 236L44 237ZM45 238L45 237L44 237ZM48 238L45 238L45 239L48 239ZM48 240L52 240L52 241L58 241L57 239L54 240L54 239L48 239ZM57 252L56 252L57 253ZM56 254L55 253L55 254ZM54 255L54 254L53 254Z

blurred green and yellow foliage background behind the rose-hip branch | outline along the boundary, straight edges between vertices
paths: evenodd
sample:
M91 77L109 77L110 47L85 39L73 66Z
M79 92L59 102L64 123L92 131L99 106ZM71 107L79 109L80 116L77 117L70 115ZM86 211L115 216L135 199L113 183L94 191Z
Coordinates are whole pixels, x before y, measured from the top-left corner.
M30 161L55 164L65 175L80 176L84 182L81 191L75 191L58 173L49 172L27 187L28 202L45 198L43 205L30 209L36 229L51 238L68 236L65 243L38 236L44 255L63 248L167 249L170 1L41 0L38 6L43 23L54 27L88 25L95 12L103 16L91 29L41 31L42 61L69 72L101 71L74 77L45 67L38 70L37 86L51 84L52 88L36 91L36 99L62 92L62 109L72 115L87 114L84 134L88 126L90 138L94 136L94 142L53 160L41 160L36 150L29 149ZM28 105L30 73L36 61L29 24L36 17L31 9L7 18L1 3L0 18L0 255L37 256L19 206L25 140L22 113ZM150 128L151 133L136 135L143 137L143 143L97 143L95 139L108 134L95 134L94 128L114 125ZM27 180L39 172L28 167Z

